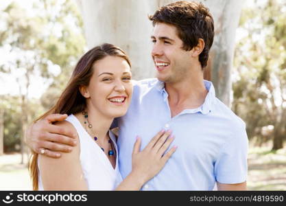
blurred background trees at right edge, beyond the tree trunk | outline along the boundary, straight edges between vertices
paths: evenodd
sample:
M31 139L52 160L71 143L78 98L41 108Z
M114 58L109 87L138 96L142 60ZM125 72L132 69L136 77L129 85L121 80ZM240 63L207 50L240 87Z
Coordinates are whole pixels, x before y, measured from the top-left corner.
M233 110L248 137L272 150L286 139L286 2L254 1L241 14L235 50Z

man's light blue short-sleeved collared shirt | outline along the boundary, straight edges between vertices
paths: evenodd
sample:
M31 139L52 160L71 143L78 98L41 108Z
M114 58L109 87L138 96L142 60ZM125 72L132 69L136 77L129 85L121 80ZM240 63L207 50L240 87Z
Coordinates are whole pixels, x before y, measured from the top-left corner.
M134 82L128 113L119 118L119 170L125 178L132 168L136 135L141 150L162 128L175 136L178 146L143 190L213 190L215 182L246 181L248 137L244 122L215 98L213 84L204 81L208 94L202 106L185 109L171 117L164 82L147 79Z

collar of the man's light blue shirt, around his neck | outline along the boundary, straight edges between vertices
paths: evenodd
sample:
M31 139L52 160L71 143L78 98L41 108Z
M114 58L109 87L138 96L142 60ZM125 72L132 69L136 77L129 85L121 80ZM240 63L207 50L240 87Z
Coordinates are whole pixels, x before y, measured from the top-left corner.
M156 89L164 94L164 99L167 100L167 91L165 90L165 83L158 80L158 82L155 85ZM191 108L186 109L182 113L202 113L203 115L207 115L211 112L213 108L213 103L215 102L215 87L213 87L213 84L210 81L204 80L204 87L208 90L208 93L206 94L206 98L204 99L204 103L199 106L198 108Z

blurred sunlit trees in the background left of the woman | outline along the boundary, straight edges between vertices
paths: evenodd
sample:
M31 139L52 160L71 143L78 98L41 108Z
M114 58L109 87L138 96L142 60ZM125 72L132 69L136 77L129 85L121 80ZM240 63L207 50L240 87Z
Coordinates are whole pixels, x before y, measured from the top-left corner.
M1 78L14 78L19 89L18 95L1 97L3 149L23 154L27 125L55 103L83 54L82 19L73 1L32 1L31 8L10 1L1 24L0 49L10 56L1 60ZM49 87L40 100L31 94L37 78Z

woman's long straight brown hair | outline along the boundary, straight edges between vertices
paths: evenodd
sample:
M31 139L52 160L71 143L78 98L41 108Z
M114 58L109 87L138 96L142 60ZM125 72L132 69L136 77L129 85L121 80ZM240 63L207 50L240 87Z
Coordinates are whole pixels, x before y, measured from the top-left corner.
M67 87L64 89L60 98L56 104L49 109L45 114L38 117L43 119L51 113L60 114L75 114L82 112L86 108L86 99L80 93L80 86L88 86L91 76L93 76L93 64L105 58L106 56L119 56L128 62L131 67L130 60L125 52L115 45L104 43L93 49L89 50L80 58L76 65L71 79L69 80ZM32 155L29 159L29 173L32 179L33 190L38 190L38 154L32 151Z

